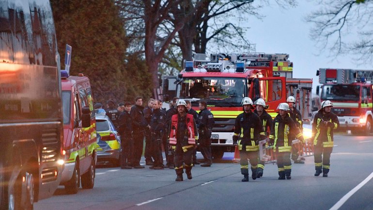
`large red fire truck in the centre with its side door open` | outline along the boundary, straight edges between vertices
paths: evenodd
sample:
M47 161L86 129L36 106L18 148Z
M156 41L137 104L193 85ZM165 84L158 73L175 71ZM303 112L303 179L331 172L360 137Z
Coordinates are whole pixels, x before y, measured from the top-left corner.
M293 78L293 62L288 54L195 54L193 61L185 61L177 77L176 96L188 99L198 110L198 100L206 100L214 114L215 125L211 135L212 155L221 159L224 152L234 152L233 131L241 101L263 98L272 117L276 108L288 96L296 98L296 109L303 120L311 120L311 79ZM164 81L165 84L170 82ZM167 90L165 90L167 91Z

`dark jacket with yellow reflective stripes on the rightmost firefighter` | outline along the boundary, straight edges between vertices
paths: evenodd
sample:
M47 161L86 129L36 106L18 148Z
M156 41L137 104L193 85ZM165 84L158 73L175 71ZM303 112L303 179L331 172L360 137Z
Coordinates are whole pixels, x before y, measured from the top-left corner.
M327 125L324 122L327 122ZM335 113L323 113L323 109L316 113L312 125L313 145L333 147L333 130L339 127L339 120Z

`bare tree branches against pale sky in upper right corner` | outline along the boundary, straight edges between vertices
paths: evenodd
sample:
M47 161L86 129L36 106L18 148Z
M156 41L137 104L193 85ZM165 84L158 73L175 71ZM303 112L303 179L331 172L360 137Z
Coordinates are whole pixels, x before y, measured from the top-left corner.
M355 54L360 63L373 61L373 1L319 1L321 9L312 12L306 21L313 23L311 38L321 49L327 48L334 56ZM348 41L348 37L354 41Z

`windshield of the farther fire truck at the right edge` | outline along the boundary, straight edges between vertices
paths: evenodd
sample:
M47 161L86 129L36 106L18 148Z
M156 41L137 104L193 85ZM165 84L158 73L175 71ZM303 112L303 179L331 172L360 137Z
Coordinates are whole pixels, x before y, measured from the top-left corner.
M359 101L360 86L341 84L324 85L321 99L337 101Z

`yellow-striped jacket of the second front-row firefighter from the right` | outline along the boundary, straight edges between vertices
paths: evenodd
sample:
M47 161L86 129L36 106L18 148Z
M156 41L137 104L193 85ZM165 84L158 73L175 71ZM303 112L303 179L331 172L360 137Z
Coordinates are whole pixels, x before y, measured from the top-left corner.
M284 118L278 114L273 120L271 134L269 138L274 142L273 150L278 152L291 152L292 151L292 139L289 139L289 135L293 134L295 138L304 141L303 135L298 128L295 126L295 122L286 115Z

